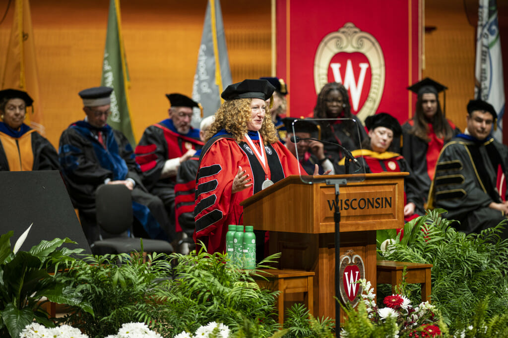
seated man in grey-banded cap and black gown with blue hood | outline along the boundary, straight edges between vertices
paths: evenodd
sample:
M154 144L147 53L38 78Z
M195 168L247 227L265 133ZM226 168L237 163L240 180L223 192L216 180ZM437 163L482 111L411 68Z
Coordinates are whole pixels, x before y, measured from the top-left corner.
M86 117L61 134L59 161L69 195L90 244L103 232L96 222L95 206L95 191L102 184L123 184L132 191L136 235L170 241L162 201L143 186L129 141L107 124L112 91L109 87L80 91Z

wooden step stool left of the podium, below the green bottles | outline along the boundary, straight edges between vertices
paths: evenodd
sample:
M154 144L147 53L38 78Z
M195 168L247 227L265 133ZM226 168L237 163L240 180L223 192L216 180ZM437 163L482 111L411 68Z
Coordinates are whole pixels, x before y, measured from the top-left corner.
M252 276L260 287L279 291L277 298L279 324L284 323L284 294L287 293L303 292L309 314L314 315L314 272L285 269L259 269L257 272L268 279L267 281L258 276Z

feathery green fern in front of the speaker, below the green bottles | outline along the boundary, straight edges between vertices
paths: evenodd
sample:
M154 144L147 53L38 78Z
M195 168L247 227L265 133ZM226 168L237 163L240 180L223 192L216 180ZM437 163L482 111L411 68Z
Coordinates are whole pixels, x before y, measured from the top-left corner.
M266 258L257 268L268 267L279 256ZM256 271L243 271L227 255L208 254L204 248L188 255L172 254L171 259L174 279L157 287L156 301L161 306L153 310L153 316L164 323L159 326L162 335L195 332L210 321L224 323L233 332L243 328L244 336L267 337L278 329L277 293L258 286L253 279Z

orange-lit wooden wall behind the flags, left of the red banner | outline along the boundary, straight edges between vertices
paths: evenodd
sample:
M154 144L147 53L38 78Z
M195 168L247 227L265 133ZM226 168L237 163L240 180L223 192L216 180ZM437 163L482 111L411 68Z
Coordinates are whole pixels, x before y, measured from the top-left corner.
M131 76L136 138L167 117L167 92L192 94L206 0L121 0L125 51ZM233 81L268 76L270 0L222 0ZM101 81L108 0L30 0L47 138L56 147L63 129L84 117L78 91ZM7 1L0 2L0 14ZM3 74L13 5L0 24Z

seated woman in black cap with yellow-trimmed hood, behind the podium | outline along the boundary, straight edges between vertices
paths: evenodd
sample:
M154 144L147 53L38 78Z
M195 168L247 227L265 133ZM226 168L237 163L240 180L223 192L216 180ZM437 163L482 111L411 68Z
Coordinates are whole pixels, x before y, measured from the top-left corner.
M364 149L351 153L363 163L366 173L408 172L409 175L404 176L404 220L408 222L423 215L423 197L418 190L415 175L404 157L393 152L393 140L398 139L402 132L399 122L388 113L378 113L367 117L365 126L369 132L368 138L362 143ZM342 168L344 160L339 164Z

